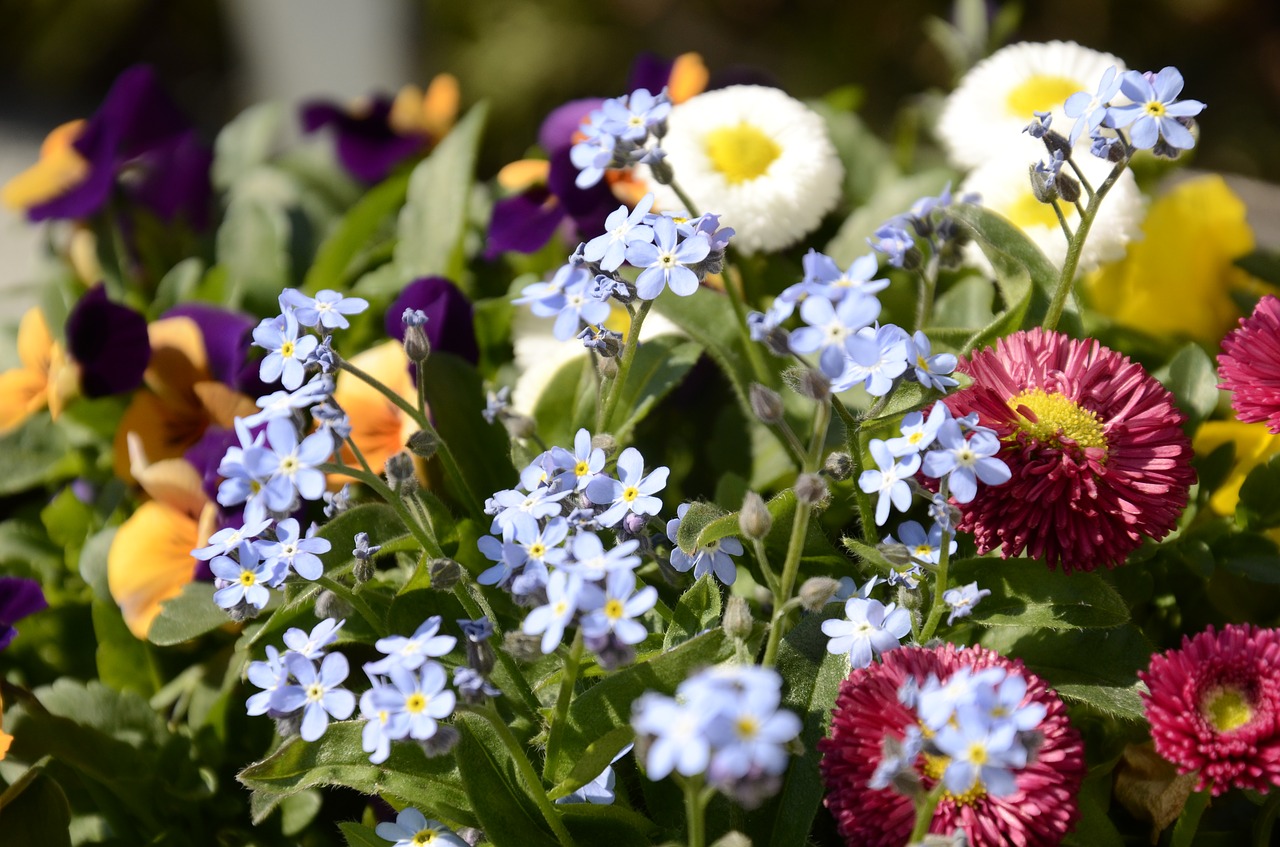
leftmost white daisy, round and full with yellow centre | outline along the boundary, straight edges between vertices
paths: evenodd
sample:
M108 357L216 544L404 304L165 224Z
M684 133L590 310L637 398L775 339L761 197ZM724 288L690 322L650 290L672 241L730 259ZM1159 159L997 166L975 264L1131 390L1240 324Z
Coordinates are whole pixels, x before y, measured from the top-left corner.
M777 88L731 86L671 110L662 148L698 212L716 212L745 253L788 247L840 200L844 166L827 122ZM658 205L682 209L652 177Z

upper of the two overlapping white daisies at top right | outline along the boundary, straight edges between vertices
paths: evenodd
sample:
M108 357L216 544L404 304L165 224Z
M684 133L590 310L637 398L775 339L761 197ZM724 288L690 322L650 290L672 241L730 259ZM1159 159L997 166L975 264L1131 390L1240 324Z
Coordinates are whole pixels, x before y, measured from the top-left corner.
M1066 136L1074 123L1062 111L1066 99L1076 91L1092 93L1112 65L1124 73L1120 59L1074 41L1009 45L965 74L942 106L934 132L959 168L977 168L1016 147L1036 111L1051 113L1052 128ZM1089 137L1082 134L1078 143L1088 151Z

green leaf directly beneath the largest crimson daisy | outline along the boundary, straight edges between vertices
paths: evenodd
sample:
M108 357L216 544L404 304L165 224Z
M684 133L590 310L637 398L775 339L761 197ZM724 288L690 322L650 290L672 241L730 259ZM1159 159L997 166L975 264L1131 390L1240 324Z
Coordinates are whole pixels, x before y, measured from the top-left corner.
M986 627L1079 629L1129 621L1124 598L1096 573L1066 577L1027 559L961 559L952 585L977 582L991 591L966 618Z

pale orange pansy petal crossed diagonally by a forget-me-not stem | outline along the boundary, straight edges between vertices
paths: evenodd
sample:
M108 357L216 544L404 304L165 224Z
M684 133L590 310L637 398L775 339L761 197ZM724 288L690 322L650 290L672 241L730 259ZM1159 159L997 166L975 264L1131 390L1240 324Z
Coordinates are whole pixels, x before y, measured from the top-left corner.
M408 357L399 342L384 342L351 358L351 363L381 381L410 403L417 403L417 390L408 376ZM334 402L347 412L351 438L356 441L370 470L380 473L387 459L399 453L417 424L367 383L347 371L338 374ZM358 464L351 448L342 450L343 462ZM338 485L346 479L332 479Z

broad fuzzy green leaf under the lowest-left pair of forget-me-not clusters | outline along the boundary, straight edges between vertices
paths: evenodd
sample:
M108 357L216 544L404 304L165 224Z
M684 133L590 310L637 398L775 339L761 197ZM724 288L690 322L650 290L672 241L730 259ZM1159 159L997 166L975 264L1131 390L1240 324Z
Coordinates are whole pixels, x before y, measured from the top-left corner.
M361 748L364 722L330 723L319 741L288 738L270 756L242 770L238 779L259 796L253 823L261 823L284 797L308 788L346 786L413 803L424 812L474 827L471 801L462 787L454 759L429 759L415 743L392 745L381 765Z

